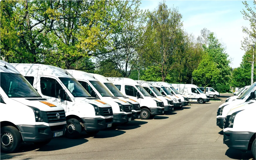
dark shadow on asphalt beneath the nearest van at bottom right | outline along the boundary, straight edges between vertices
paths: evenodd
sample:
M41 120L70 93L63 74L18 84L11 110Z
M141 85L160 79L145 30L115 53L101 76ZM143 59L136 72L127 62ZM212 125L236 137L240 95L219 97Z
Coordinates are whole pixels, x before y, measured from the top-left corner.
M232 159L253 159L252 151L242 152L232 148L228 148L225 155Z

